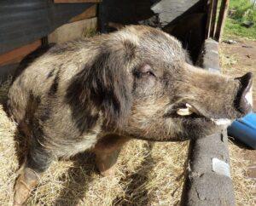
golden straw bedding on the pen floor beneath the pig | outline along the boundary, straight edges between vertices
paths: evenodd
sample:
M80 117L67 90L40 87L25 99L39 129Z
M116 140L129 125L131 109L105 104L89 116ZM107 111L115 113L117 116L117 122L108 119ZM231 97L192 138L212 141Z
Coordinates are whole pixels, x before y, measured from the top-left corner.
M15 123L3 110L9 82L0 88L0 203L12 203L18 156ZM183 188L188 142L132 140L122 150L116 175L99 175L93 154L84 152L53 163L28 205L176 205ZM17 151L16 148L20 148ZM21 155L22 156L22 155Z

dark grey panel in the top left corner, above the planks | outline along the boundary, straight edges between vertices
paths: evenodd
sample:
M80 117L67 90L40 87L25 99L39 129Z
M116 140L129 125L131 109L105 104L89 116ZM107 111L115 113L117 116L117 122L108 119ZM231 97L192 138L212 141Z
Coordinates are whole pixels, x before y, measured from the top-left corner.
M45 37L92 3L61 3L52 0L0 1L0 54Z

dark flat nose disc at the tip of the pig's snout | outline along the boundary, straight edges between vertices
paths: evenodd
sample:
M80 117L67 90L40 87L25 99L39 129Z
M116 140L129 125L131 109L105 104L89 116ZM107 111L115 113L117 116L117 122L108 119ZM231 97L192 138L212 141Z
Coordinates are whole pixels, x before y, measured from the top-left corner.
M235 106L236 109L243 113L247 114L248 112L252 112L252 105L253 105L253 73L247 72L242 77L236 77L236 81L240 82L240 88L238 89Z

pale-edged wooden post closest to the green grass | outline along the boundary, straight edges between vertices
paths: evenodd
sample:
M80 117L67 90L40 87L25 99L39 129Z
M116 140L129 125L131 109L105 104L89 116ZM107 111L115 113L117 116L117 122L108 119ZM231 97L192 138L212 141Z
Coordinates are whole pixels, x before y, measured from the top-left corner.
M214 37L214 39L218 42L220 41L222 32L224 30L224 22L228 14L229 3L230 3L230 0L222 0L221 6L220 6L219 15L218 15L218 24L215 32L215 37Z

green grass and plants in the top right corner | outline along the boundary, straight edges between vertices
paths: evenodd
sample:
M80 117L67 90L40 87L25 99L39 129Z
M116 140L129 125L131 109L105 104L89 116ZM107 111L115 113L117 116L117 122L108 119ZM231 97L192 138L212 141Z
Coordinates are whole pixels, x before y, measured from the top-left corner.
M253 22L252 27L242 26ZM246 37L256 40L256 7L249 0L230 0L230 12L224 28L224 37Z

